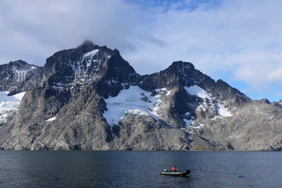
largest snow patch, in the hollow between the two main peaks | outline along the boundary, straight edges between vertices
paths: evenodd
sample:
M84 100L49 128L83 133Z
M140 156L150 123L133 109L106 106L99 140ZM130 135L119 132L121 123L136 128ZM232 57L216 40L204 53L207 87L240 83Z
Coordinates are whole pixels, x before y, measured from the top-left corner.
M110 126L118 124L128 113L150 115L157 120L155 104L161 101L157 95L154 97L150 95L151 92L144 91L138 86L123 89L118 96L105 99L108 111L105 111L103 116Z

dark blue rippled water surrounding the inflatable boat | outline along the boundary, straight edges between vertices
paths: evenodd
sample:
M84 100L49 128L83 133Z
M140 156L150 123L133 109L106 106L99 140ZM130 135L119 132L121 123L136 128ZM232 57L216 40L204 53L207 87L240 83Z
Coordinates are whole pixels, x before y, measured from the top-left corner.
M282 152L0 151L0 187L282 187ZM186 177L160 175L175 165Z

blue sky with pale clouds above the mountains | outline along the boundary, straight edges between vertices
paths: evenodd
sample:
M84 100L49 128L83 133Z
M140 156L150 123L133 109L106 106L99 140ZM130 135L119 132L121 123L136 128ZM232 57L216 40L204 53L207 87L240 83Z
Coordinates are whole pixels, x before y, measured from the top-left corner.
M280 0L0 1L0 64L46 58L86 39L141 75L191 62L253 100L282 99Z

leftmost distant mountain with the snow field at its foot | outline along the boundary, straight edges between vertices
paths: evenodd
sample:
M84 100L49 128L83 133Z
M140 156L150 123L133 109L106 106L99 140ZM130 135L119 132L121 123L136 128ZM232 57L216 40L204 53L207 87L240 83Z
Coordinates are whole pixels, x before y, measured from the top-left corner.
M25 91L39 85L42 68L22 60L0 65L0 126L14 121Z

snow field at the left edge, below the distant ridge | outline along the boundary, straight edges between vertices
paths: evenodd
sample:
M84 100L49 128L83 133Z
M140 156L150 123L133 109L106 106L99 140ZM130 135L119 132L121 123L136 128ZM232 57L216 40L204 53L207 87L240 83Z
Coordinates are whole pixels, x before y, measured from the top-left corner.
M25 92L8 96L8 92L0 91L0 124L7 123L8 116L15 116Z

